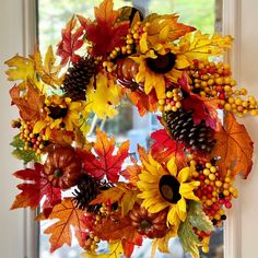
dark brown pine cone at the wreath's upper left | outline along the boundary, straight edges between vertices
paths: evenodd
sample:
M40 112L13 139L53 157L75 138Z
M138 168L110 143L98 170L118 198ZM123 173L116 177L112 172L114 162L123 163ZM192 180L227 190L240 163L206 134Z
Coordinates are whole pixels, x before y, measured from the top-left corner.
M94 58L81 58L68 69L63 80L66 96L71 97L72 101L85 101L86 87L94 73Z

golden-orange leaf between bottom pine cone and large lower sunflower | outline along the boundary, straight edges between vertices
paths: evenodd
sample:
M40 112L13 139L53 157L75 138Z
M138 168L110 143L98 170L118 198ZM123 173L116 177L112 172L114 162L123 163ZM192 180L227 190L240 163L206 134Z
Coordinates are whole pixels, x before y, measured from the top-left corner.
M128 184L117 183L116 187L112 187L97 195L90 204L120 202L121 215L125 216L133 208L139 194L137 189Z

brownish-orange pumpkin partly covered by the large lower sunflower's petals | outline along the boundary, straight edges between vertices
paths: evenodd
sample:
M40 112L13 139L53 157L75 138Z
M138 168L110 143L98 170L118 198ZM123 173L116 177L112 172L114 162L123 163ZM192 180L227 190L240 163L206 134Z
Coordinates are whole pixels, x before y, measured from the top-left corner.
M137 228L139 234L145 235L149 238L161 238L166 235L168 232L166 215L167 212L165 210L157 213L150 213L138 203L129 212L132 226Z

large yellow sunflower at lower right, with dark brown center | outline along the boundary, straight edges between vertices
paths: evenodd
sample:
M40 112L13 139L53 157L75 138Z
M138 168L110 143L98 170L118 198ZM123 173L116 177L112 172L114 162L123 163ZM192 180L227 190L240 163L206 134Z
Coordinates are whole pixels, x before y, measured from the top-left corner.
M167 224L177 227L187 216L186 200L199 201L194 190L200 183L190 179L190 167L178 172L175 157L167 162L166 168L149 154L137 183L141 190L138 197L143 199L142 206L151 213L168 208Z

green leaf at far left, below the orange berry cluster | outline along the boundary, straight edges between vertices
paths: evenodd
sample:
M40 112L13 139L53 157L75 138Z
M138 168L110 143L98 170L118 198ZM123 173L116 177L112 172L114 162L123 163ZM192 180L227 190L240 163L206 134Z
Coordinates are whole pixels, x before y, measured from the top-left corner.
M31 161L38 162L40 160L39 156L36 155L35 151L24 150L24 142L20 139L20 133L13 138L10 145L14 146L12 155L24 161L24 163L28 163Z

